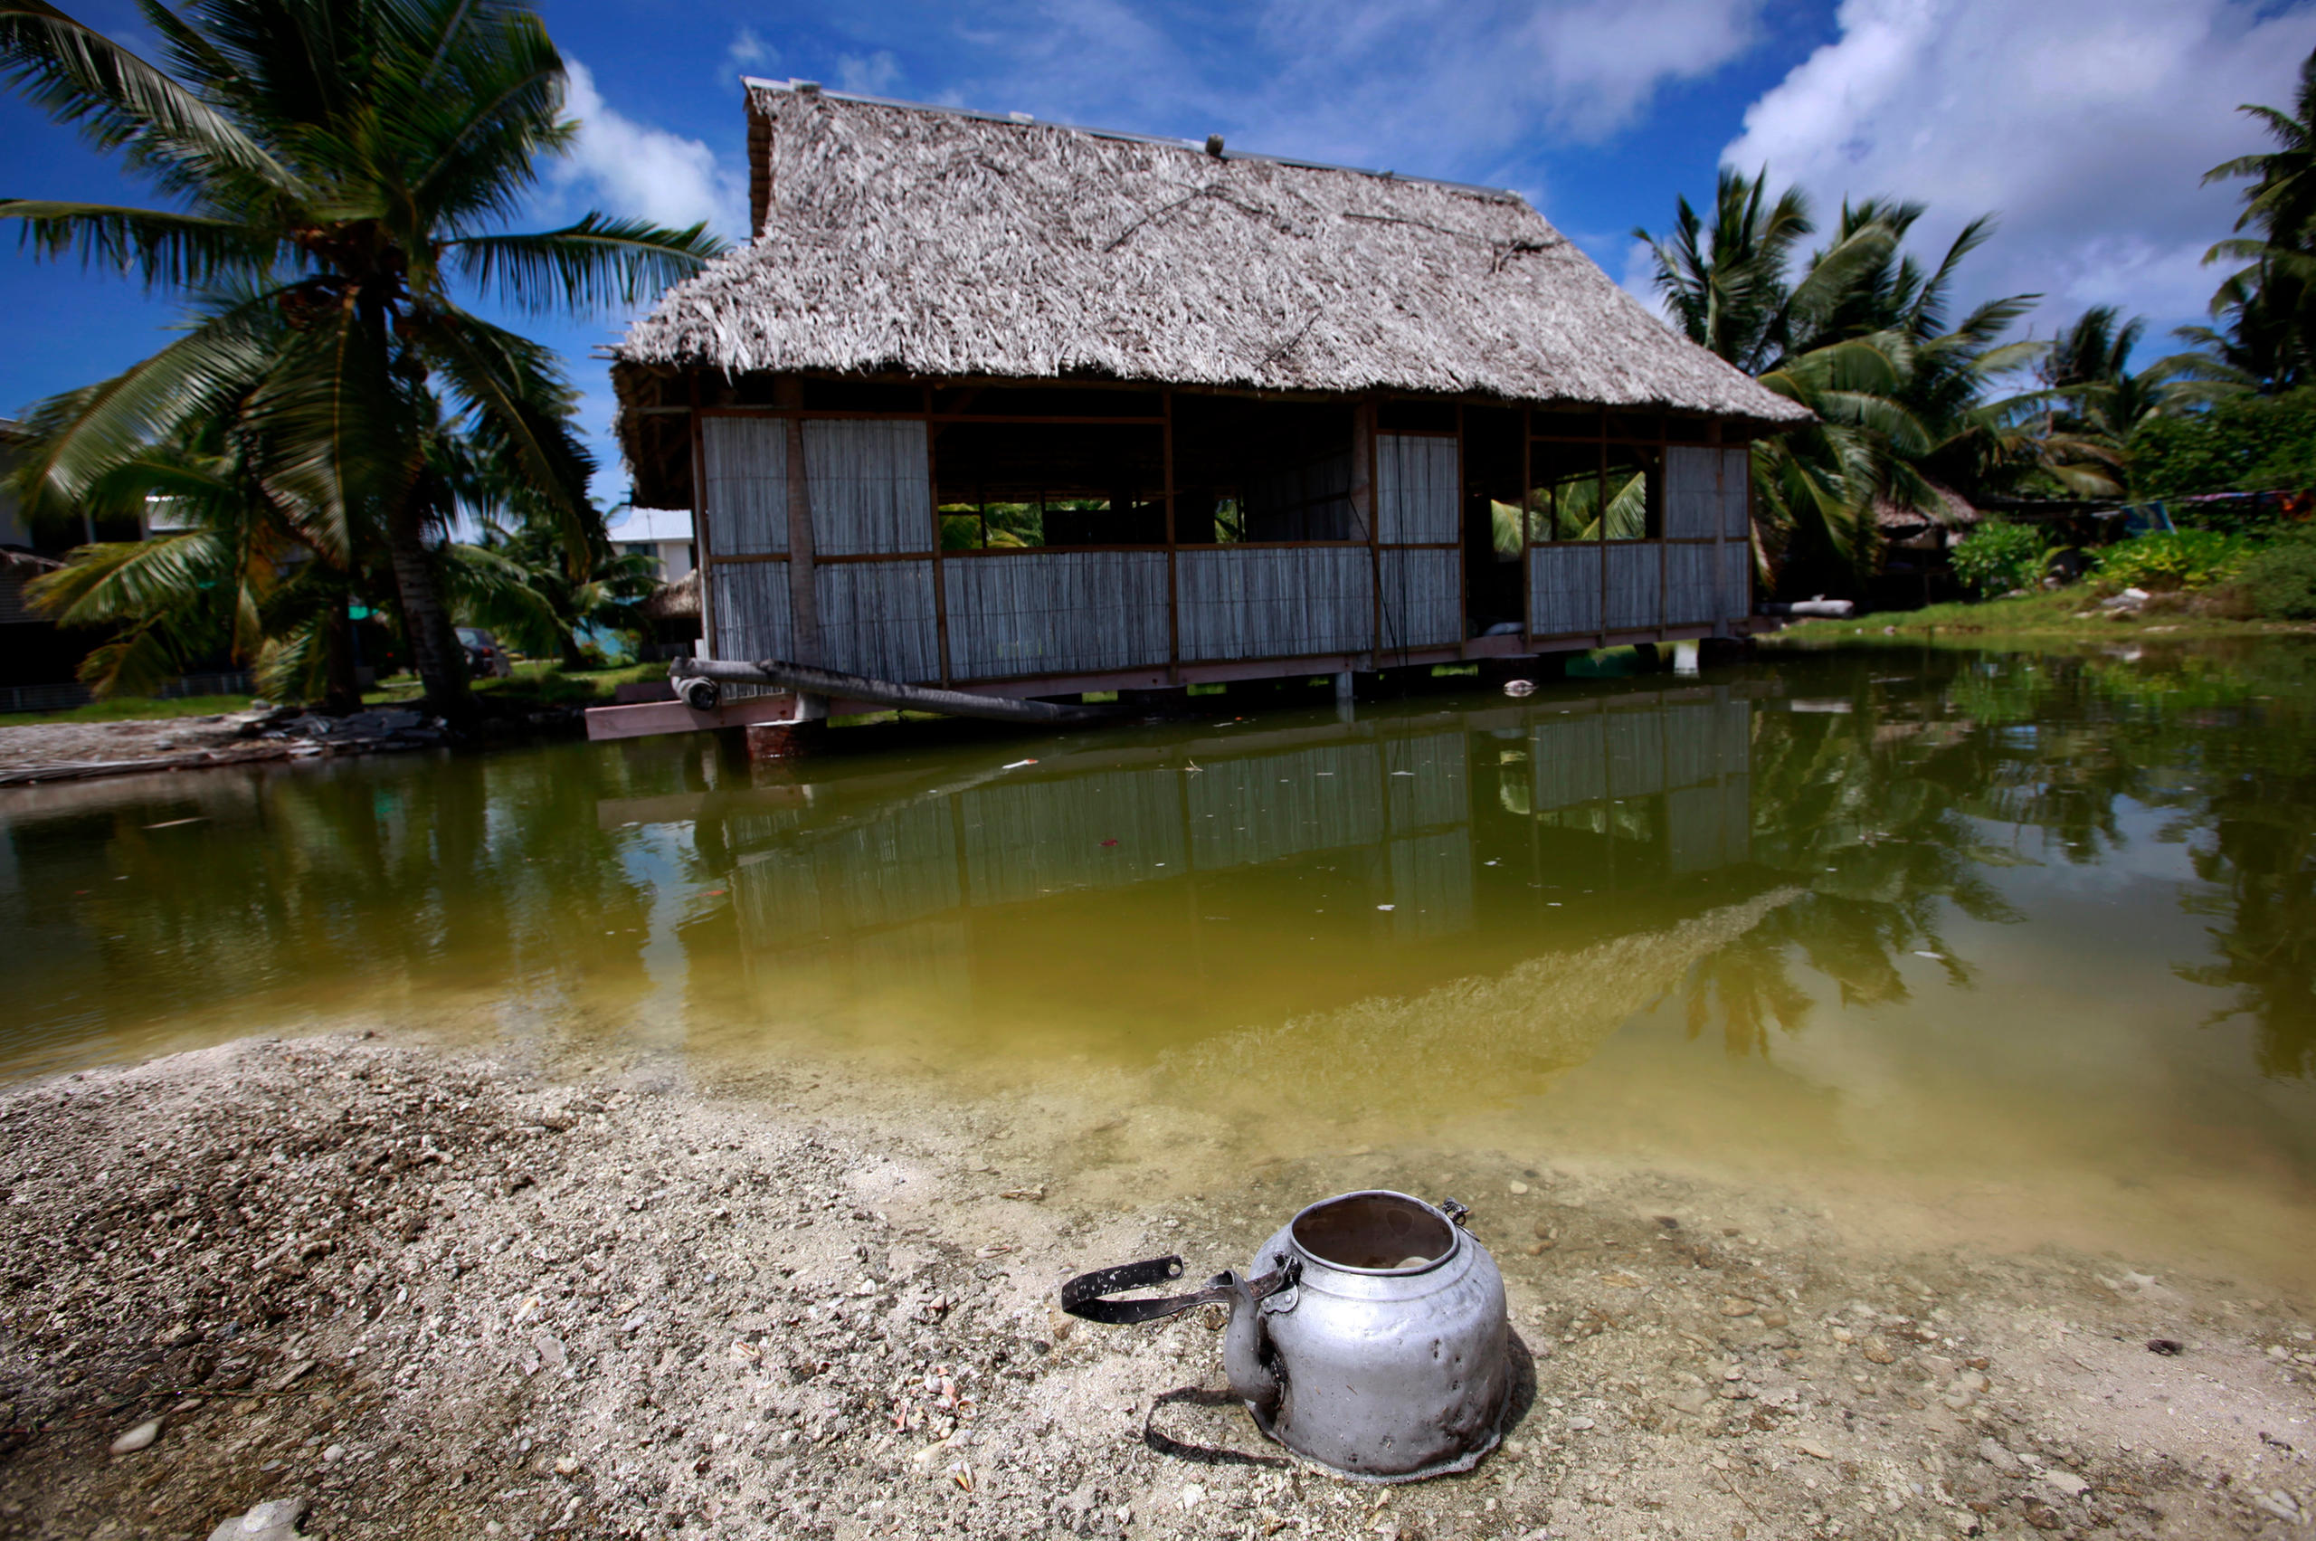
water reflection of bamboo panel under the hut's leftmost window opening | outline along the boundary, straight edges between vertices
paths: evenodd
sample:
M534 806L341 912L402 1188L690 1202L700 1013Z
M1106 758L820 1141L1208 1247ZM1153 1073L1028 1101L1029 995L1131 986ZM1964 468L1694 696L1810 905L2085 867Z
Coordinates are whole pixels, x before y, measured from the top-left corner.
M1102 772L963 793L970 901L1024 904L1186 876L1179 779L1172 769Z

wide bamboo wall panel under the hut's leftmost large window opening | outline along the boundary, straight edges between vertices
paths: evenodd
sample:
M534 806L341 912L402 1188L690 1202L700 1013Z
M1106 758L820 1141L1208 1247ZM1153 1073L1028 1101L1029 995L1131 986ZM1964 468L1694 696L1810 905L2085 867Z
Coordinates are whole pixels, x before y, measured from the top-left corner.
M943 563L957 679L1167 660L1165 552L1021 552Z

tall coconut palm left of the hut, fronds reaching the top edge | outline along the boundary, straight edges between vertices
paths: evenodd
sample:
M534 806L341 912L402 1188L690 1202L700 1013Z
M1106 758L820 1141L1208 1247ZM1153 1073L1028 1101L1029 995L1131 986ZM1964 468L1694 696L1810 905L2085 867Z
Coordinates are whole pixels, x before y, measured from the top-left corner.
M588 213L503 234L565 151L563 58L505 0L139 0L148 63L42 0L0 0L0 76L164 206L0 199L44 257L148 287L204 287L171 345L79 394L19 473L72 505L185 424L234 412L239 454L340 570L382 554L419 677L468 709L435 545L452 512L445 424L540 494L574 561L591 459L547 348L461 308L454 280L519 308L635 301L718 250L702 225Z

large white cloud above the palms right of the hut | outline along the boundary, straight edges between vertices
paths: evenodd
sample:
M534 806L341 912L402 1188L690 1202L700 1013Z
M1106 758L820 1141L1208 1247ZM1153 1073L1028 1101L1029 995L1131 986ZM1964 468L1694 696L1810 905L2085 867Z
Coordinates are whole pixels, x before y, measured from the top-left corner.
M1925 248L1999 213L1966 285L2045 294L2045 329L2101 301L2203 311L2237 197L2203 174L2263 148L2237 104L2288 102L2316 46L2309 9L2244 0L1844 0L1837 25L1723 162L1800 183L1820 225L1846 195L1920 199Z

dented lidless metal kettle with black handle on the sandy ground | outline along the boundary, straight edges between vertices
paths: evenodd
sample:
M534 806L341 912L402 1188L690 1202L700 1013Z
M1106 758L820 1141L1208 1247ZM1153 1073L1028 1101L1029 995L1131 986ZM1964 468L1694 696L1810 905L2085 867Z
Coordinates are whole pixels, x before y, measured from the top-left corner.
M1464 1214L1454 1200L1341 1193L1265 1242L1248 1268L1258 1277L1105 1298L1181 1277L1181 1258L1151 1258L1070 1279L1061 1305L1128 1323L1223 1302L1230 1393L1267 1437L1357 1481L1466 1471L1496 1446L1512 1363L1503 1275Z

